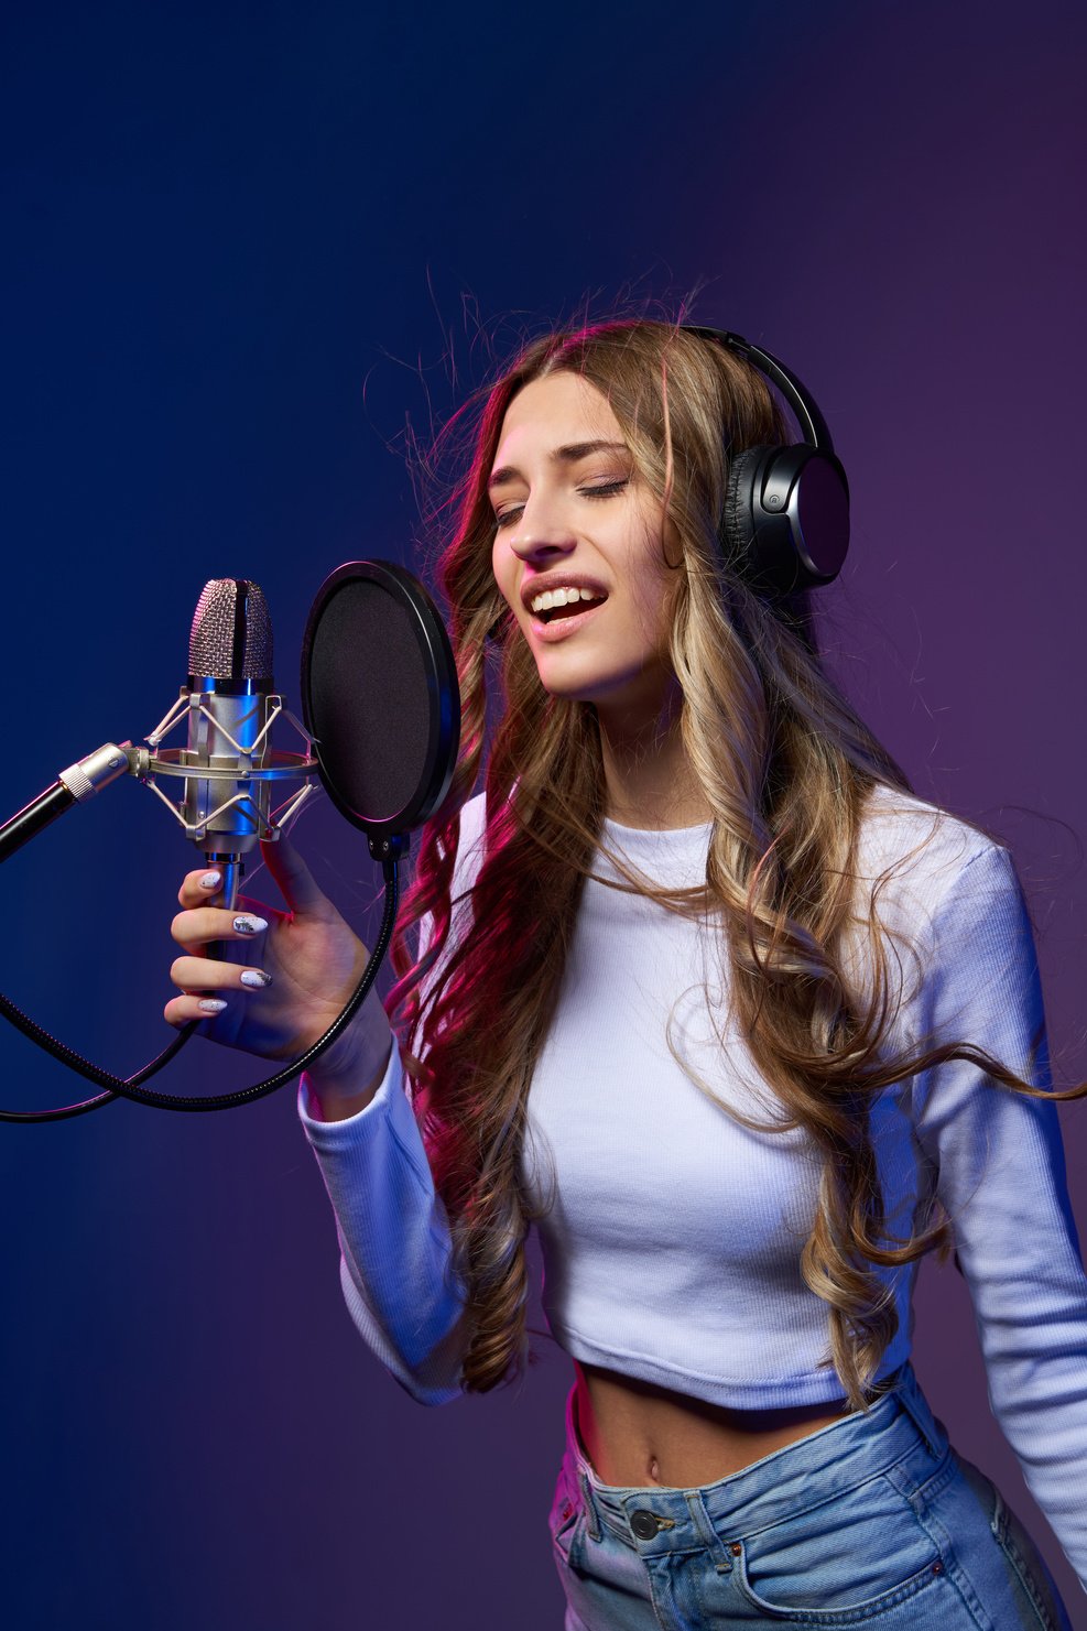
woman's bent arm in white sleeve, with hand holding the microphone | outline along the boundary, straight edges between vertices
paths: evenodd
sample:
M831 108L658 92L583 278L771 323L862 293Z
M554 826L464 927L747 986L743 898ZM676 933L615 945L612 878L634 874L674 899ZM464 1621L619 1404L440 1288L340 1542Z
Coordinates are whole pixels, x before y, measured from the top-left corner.
M331 1024L367 951L284 838L264 846L287 912L212 905L217 873L191 873L171 933L181 995L166 1019L263 1059L297 1059ZM233 957L207 956L232 943ZM212 995L214 993L214 995ZM460 1391L468 1333L452 1243L406 1098L392 1028L370 990L351 1026L304 1076L299 1114L336 1213L348 1308L362 1337L416 1399Z

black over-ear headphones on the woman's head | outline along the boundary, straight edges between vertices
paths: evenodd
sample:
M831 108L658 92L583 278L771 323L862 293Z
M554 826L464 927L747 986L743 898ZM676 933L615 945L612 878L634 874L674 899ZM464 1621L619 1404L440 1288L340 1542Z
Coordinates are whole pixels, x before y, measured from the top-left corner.
M849 550L849 483L814 398L783 362L721 328L685 323L777 385L803 442L744 447L728 457L721 550L762 594L790 595L832 582Z

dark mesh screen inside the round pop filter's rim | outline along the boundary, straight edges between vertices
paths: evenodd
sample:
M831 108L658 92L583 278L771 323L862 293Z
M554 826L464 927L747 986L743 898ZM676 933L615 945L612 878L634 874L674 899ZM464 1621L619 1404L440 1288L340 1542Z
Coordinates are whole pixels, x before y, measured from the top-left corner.
M429 773L433 703L413 612L372 581L341 584L320 613L308 682L325 776L362 820L392 820Z

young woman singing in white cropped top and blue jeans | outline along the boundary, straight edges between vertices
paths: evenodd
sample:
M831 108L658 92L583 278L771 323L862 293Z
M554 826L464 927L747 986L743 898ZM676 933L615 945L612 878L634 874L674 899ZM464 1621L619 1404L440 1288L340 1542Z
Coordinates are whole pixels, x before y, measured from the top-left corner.
M1067 1626L909 1365L917 1262L955 1248L1087 1585L1087 1279L1030 926L1007 850L912 798L827 680L805 597L721 548L730 462L787 440L754 367L663 323L548 336L486 395L400 1045L370 998L299 1109L351 1315L424 1403L521 1368L539 1228L570 1631ZM286 915L184 881L166 1018L281 1059L366 953L266 858Z

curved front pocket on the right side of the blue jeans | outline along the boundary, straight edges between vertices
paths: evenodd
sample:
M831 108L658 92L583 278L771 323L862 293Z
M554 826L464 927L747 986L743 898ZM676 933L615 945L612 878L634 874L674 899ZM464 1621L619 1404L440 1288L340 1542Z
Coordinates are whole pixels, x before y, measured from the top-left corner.
M723 1538L743 1595L767 1618L803 1624L847 1626L901 1605L906 1628L912 1598L943 1574L932 1536L883 1474L782 1523Z

